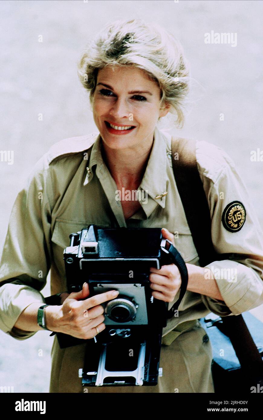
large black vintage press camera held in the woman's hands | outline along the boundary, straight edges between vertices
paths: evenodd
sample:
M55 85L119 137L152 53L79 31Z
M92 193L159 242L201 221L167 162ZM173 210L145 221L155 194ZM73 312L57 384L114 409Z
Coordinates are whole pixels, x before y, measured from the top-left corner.
M119 291L115 299L102 304L106 328L95 339L57 333L61 348L87 343L84 367L79 370L82 385L156 385L168 304L152 296L150 267L177 264L186 280L181 301L187 270L180 254L160 228L90 225L70 238L64 250L68 293L82 290L84 282L89 284L89 297Z

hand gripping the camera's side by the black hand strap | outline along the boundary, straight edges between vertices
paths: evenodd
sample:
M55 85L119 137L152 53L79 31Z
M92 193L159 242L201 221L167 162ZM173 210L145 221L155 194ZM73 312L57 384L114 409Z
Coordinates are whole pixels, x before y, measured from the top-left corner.
M165 228L162 228L162 234L174 245L173 234ZM173 302L181 287L181 275L177 266L175 264L163 265L160 270L151 267L150 273L150 288L154 290L152 296L164 302Z

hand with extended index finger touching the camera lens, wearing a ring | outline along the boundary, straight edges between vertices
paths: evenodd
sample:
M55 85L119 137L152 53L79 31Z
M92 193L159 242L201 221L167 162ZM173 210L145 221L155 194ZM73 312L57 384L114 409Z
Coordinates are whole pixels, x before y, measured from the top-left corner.
M69 294L62 306L46 307L46 326L50 331L78 339L92 339L98 334L97 329L99 332L105 329L104 308L101 303L115 299L118 293L111 290L88 297L89 285L84 283L82 290Z

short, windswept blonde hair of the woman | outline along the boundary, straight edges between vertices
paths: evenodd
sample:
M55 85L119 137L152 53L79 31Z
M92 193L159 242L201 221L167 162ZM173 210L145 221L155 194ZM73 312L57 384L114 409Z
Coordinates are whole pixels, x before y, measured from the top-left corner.
M189 66L173 34L143 19L117 20L105 26L82 53L79 79L92 104L97 73L105 66L136 66L161 89L160 105L171 105L176 124L183 126L182 102L189 92Z

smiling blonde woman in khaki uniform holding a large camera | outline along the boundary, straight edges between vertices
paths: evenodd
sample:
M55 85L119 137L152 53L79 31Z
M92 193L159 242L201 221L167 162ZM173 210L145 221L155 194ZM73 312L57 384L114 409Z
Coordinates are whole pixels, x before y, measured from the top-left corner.
M110 24L79 64L99 133L51 147L18 194L0 269L0 328L16 339L42 329L37 313L45 302L40 291L47 273L51 268L52 294L66 290L63 249L69 234L89 224L162 227L189 274L179 317L168 320L163 330L158 386L83 390L78 369L85 346L60 349L55 337L50 392L214 392L211 345L198 320L210 311L237 315L262 303L260 227L232 160L206 142L197 142L197 164L210 205L213 244L231 259L199 266L171 167L171 136L158 129L168 112L177 115L178 124L183 122L188 74L179 43L164 29L142 20ZM126 201L118 193L138 190L147 199ZM234 200L246 213L237 232L221 220ZM214 278L215 268L236 270L235 279ZM174 264L152 268L150 282L153 297L169 307L178 299L181 278ZM103 331L101 304L113 299L111 291L89 298L84 283L82 291L60 297L60 305L45 308L47 329L84 339Z

